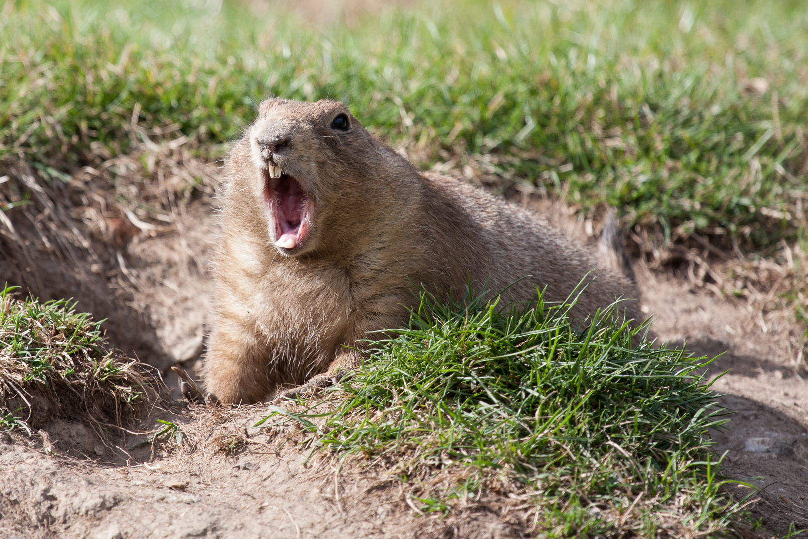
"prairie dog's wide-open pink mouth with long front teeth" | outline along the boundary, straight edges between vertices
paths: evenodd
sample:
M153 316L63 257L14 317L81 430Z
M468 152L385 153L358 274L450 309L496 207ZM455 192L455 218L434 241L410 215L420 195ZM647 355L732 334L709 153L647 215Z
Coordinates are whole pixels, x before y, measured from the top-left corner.
M263 201L275 219L276 246L292 250L309 234L314 202L292 176L281 172L273 178L277 169L280 166L272 167L273 174L264 174Z

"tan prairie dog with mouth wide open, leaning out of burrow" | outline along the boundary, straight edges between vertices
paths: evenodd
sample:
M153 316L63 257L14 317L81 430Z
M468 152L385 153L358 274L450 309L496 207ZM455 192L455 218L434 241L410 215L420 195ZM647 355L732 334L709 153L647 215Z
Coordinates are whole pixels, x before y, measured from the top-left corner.
M545 285L562 301L598 265L594 249L534 213L419 172L334 101L264 101L226 166L206 363L221 402L356 368L357 340L406 323L416 286L461 297L469 280L499 292L527 277L500 305L535 301ZM638 288L597 268L570 312L583 320L616 297ZM623 305L640 318L636 302Z

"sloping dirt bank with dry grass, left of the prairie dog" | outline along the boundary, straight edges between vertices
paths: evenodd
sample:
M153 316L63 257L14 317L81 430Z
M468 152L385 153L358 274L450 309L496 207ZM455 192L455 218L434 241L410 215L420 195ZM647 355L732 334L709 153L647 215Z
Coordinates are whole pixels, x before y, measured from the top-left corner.
M135 153L95 156L98 168L73 177L0 162L0 284L42 301L73 298L107 320L117 348L167 373L202 352L219 170L186 137L158 145L133 130Z

